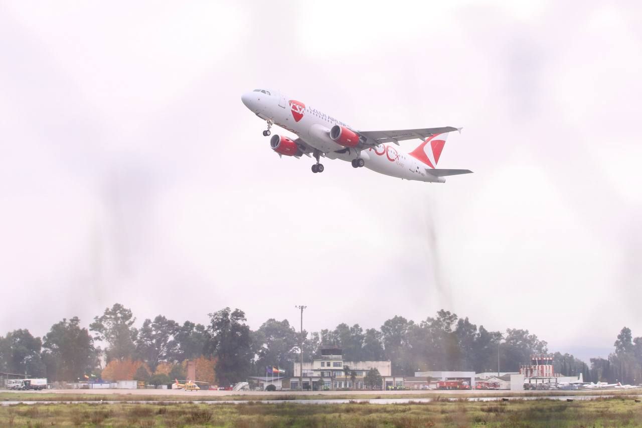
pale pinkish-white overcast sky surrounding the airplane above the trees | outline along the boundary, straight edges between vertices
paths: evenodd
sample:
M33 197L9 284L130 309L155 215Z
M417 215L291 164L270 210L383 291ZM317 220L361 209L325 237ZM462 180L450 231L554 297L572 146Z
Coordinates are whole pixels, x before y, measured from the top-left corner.
M304 304L308 330L444 308L606 356L642 335L641 12L0 2L0 334L115 302L252 328ZM257 87L360 130L464 127L440 167L474 174L312 174L270 150Z

